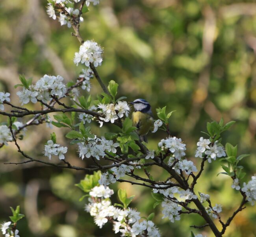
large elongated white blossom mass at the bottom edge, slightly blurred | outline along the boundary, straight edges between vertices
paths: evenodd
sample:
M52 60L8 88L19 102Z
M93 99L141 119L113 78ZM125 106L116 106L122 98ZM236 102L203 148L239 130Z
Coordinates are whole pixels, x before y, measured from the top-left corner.
M121 233L122 236L135 237L144 235L147 231L149 237L160 237L158 228L151 220L141 221L140 212L136 209L120 209L111 205L109 200L113 190L103 185L96 186L89 192L89 204L85 205L85 211L94 217L95 224L102 228L104 224L111 220L115 233Z

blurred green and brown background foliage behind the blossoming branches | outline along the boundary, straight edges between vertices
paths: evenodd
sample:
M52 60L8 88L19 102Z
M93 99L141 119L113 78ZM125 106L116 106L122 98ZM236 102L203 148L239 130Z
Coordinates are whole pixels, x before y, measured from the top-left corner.
M11 101L19 105L13 86L19 74L38 80L44 74L61 75L66 81L76 80L82 67L72 62L79 43L71 29L61 27L46 15L46 0L0 1L0 91L11 93ZM105 83L119 83L119 96L128 100L145 98L156 116L157 107L176 110L170 119L173 136L187 144L187 157L194 158L196 143L206 131L206 122L224 118L236 124L223 134L227 141L238 144L239 154L251 154L242 161L248 181L256 171L256 3L233 0L104 0L90 6L81 25L83 39L94 39L104 47L104 62L98 72ZM92 96L100 93L92 80ZM82 91L82 94L87 92ZM70 103L66 101L66 103ZM39 105L26 105L29 109ZM6 106L7 107L7 106ZM7 110L9 108L6 108ZM1 122L6 118L0 117ZM24 120L23 120L24 122ZM105 126L93 132L102 135L113 131ZM68 145L65 129L46 128L45 124L29 128L22 149L43 160L43 145L55 131L57 141ZM165 134L149 135L148 147L156 149ZM84 172L60 170L35 163L4 165L22 161L13 144L0 149L0 222L11 214L9 206L20 205L26 215L18 223L20 236L26 237L111 237L118 236L106 224L101 230L93 218L83 211L82 192L74 186ZM88 166L74 146L69 147L67 160L74 165ZM59 162L54 159L54 162ZM232 181L221 172L219 161L206 169L197 190L209 193L212 203L223 204L224 220L239 204L241 197L231 189ZM167 174L153 167L152 175L163 180ZM150 190L121 183L111 185L114 191L127 190L136 195L133 207L143 215L152 212L154 201ZM117 202L113 197L113 202ZM227 237L256 236L256 208L247 205L226 231ZM161 219L160 207L154 222L163 237L189 236L190 225L204 224L196 215L183 215L174 224ZM208 228L195 230L208 237Z

